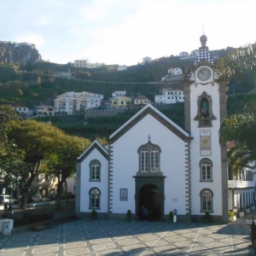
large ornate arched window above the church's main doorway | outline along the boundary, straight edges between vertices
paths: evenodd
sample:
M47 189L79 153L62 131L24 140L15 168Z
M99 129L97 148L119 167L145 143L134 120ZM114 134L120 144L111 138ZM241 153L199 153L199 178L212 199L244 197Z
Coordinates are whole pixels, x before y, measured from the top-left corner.
M139 172L156 173L160 172L160 148L157 145L148 143L138 149L139 154Z

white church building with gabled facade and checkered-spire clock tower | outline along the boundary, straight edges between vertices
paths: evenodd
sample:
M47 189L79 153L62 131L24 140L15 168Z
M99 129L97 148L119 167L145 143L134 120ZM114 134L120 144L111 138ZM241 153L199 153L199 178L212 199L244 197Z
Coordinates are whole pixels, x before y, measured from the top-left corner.
M225 86L218 75L207 37L201 36L193 72L184 80L185 129L147 104L109 137L78 157L76 214L96 210L99 218L122 218L131 210L142 218L201 221L206 212L229 221L226 147L219 144L225 117Z

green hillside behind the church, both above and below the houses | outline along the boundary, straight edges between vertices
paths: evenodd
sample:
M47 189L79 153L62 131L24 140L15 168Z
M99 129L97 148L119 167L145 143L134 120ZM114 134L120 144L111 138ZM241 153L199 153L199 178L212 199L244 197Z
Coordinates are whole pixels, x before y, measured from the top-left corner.
M212 51L212 55L219 57L230 52L226 50ZM170 56L154 60L147 65L135 65L128 70L117 72L114 65L96 69L75 68L71 63L66 65L37 61L25 63L0 63L0 104L24 105L36 108L37 105L53 106L56 96L67 91L90 91L104 95L104 99L111 97L114 90L126 90L127 96L144 95L154 102L154 96L166 87L180 87L180 81L160 83L170 67L181 67L183 73L188 73L193 67L195 59L180 60L177 56ZM216 61L218 65L218 61ZM74 79L64 79L52 76L53 72L73 73ZM234 82L234 81L233 81ZM252 90L255 87L253 76L241 79L236 84L227 84L230 90L227 95L236 95ZM227 114L240 113L243 96L228 97ZM51 121L67 133L82 137L108 137L113 131L123 125L126 120L138 110L128 110L112 117L95 117L84 125L83 114L70 116L55 116L38 118L41 121ZM184 125L183 103L173 104L160 109L177 125Z

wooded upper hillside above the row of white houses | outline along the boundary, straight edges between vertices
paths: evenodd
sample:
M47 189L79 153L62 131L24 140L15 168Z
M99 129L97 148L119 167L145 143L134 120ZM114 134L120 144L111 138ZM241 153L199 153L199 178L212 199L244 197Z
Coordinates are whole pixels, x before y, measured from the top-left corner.
M212 51L212 55L218 59L230 50L231 48ZM88 69L73 67L71 63L61 65L47 61L26 64L0 63L0 103L34 108L40 104L53 105L53 100L61 93L83 90L103 94L105 100L111 97L114 90L126 90L127 96L144 95L154 102L154 96L159 94L159 90L168 86L166 83L160 83L168 69L181 67L183 73L187 74L194 61L193 58L180 60L179 57L172 55L154 60L147 65L128 67L128 70L122 72L117 72L115 65ZM70 71L75 79L51 76L56 71ZM170 84L180 86L179 81L175 84L169 82ZM239 84L236 84L236 93L244 88L245 86L239 88Z

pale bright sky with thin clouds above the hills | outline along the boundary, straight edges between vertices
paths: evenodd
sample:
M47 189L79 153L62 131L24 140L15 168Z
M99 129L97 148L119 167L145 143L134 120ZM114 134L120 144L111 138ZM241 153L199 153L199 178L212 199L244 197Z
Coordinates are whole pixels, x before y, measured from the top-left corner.
M255 0L5 0L0 40L36 44L44 61L132 66L256 42Z

